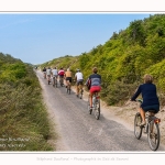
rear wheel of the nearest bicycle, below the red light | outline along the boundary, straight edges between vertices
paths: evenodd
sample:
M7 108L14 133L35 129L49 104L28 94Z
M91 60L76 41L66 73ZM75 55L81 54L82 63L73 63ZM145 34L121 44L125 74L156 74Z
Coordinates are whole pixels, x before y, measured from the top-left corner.
M148 123L148 133L147 133L147 141L150 144L150 148L152 151L156 151L160 146L160 128L158 124L154 122L154 120L152 120Z

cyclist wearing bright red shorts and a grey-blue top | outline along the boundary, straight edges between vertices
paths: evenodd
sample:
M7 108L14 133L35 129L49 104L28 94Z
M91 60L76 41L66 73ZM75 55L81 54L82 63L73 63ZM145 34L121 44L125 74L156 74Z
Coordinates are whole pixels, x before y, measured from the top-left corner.
M85 84L86 86L90 85L89 89L89 98L90 98L90 110L92 109L92 96L96 92L100 92L101 90L101 76L98 74L97 67L92 68L92 75L90 75Z

